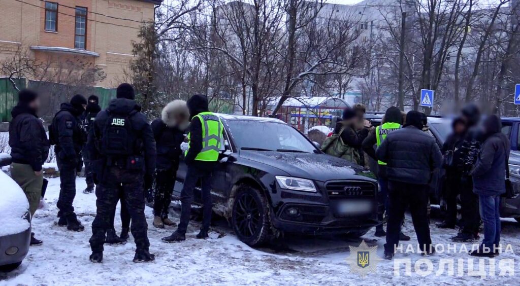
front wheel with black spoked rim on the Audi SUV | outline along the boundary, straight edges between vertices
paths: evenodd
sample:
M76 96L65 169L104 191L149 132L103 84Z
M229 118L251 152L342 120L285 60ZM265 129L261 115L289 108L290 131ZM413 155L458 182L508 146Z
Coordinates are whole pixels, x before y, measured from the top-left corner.
M269 204L260 190L241 185L233 200L231 223L240 241L251 247L270 239Z

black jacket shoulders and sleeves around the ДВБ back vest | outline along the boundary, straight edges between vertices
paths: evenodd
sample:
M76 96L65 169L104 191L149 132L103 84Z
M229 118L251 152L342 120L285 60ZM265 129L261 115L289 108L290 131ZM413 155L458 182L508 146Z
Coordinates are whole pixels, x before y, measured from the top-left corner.
M144 157L145 166L143 171L146 174L153 175L155 172L155 160L157 158L157 152L155 150L155 140L153 139L152 128L150 127L148 119L140 112L141 107L134 100L119 98L112 100L107 110L98 113L96 120L94 121L94 125L92 128L90 128L88 133L87 146L90 159L100 163L95 164L94 173L96 173L96 175L101 175L102 170L100 168L105 166L105 164L100 161L107 159L100 154L100 150L97 148L97 146L100 145L98 143L102 140L103 129L107 125L111 124L111 122L108 122L110 113L130 114L134 111L135 113L131 115L129 119L131 120L132 129L135 131L135 137L142 141L142 149L139 151L140 154L135 155Z

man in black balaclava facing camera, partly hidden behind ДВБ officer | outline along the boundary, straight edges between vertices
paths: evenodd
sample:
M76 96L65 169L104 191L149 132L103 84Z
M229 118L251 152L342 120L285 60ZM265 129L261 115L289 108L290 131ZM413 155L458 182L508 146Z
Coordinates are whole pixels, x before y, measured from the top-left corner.
M85 132L85 138L88 135L92 123L96 119L96 115L101 111L99 107L99 98L94 94L88 97L87 108L82 116L83 131ZM86 141L86 140L85 140ZM85 161L85 181L87 187L83 190L84 194L90 194L94 192L94 179L92 177L92 162L88 155L88 146L85 145L83 148L83 160Z

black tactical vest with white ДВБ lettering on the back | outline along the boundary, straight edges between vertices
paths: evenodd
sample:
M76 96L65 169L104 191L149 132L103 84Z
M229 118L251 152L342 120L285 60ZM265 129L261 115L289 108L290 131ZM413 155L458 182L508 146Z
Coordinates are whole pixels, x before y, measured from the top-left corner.
M105 156L135 155L135 131L131 117L137 111L128 114L117 114L108 111L108 119L101 130L99 152Z

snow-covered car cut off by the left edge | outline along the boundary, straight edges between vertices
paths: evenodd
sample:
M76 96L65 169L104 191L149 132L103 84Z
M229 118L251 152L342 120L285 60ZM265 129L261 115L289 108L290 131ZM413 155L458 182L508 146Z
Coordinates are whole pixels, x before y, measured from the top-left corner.
M11 157L0 154L0 167L9 164ZM29 252L31 215L22 189L3 171L0 171L0 185L0 271L11 271Z

